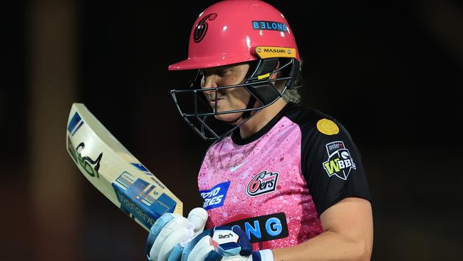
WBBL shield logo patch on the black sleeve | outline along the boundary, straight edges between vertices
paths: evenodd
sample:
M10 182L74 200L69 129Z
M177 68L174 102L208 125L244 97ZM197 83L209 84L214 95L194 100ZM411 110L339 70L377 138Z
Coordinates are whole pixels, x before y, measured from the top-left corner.
M356 169L355 163L350 157L349 150L345 148L342 141L333 141L326 144L326 152L328 153L328 160L323 163L328 177L336 175L342 180L347 180L350 170Z

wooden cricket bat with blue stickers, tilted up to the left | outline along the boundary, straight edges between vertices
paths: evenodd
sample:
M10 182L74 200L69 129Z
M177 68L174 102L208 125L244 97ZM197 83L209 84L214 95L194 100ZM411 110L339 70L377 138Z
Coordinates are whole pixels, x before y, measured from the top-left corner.
M183 203L93 116L73 103L66 148L80 172L146 230L164 213L182 215Z

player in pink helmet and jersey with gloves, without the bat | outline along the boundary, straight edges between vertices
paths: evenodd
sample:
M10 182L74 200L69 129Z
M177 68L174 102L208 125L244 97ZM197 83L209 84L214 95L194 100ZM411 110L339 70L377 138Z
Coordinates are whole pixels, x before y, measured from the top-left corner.
M163 215L147 257L370 260L360 153L338 121L299 105L301 58L283 14L256 0L209 6L194 23L188 58L169 67L193 69L191 85L171 93L189 126L214 140L198 175L204 205L190 213L196 221Z

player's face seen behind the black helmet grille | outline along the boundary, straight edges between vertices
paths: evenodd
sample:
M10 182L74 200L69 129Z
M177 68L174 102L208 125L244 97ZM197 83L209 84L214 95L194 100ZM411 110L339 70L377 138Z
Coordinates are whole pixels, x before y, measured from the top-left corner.
M201 86L202 88L214 88L244 83L248 71L249 63L205 68L202 70L204 78ZM217 104L218 113L246 108L251 96L251 93L243 87L221 89L217 91L217 99L215 91L204 91L204 94L214 112L216 112L215 106ZM227 113L217 115L215 118L219 121L234 122L239 116L241 113Z

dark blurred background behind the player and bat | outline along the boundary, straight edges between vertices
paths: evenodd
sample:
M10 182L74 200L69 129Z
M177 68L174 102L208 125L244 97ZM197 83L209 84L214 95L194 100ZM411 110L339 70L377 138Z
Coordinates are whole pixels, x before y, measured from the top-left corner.
M197 15L214 1L2 4L1 260L145 260L147 232L78 173L68 111L85 103L184 202L209 143L175 111ZM269 1L304 59L303 104L342 122L373 194L372 260L460 260L463 4Z

